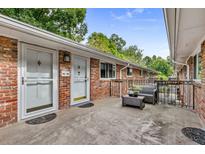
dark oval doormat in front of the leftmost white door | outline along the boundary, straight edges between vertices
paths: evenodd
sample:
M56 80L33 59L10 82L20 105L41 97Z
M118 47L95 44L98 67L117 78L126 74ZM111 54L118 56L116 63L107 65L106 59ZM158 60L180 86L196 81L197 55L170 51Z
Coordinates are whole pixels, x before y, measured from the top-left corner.
M43 123L46 123L46 122L49 122L49 121L55 119L56 116L57 115L55 113L52 113L52 114L48 114L48 115L38 117L35 119L27 120L26 123L30 124L30 125L43 124Z

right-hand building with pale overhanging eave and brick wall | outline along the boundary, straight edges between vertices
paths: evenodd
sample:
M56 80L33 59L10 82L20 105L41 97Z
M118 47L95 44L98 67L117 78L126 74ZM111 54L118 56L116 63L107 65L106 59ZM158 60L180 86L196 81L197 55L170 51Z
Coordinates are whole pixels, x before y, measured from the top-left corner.
M164 9L170 57L179 80L194 82L196 111L205 120L205 9Z

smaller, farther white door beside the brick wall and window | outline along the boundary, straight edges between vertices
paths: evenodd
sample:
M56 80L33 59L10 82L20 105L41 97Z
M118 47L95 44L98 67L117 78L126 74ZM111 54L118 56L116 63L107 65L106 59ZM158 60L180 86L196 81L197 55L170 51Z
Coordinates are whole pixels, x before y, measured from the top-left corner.
M90 61L85 57L72 58L72 91L71 105L89 100L89 67Z

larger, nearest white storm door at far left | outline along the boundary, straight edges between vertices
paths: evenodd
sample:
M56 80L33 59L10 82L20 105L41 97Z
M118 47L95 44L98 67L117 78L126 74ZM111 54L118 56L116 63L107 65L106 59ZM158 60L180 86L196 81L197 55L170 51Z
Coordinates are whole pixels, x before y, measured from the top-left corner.
M32 45L22 48L22 119L57 109L56 51Z

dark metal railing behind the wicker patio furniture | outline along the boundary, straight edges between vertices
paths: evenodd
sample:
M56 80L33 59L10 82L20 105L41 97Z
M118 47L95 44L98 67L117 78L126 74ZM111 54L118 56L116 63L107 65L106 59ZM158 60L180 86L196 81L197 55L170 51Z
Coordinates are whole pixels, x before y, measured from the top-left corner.
M157 88L157 102L170 104L188 109L195 109L196 88L193 81L165 81L165 80L111 80L110 96L122 96L128 89L135 86L155 85Z

